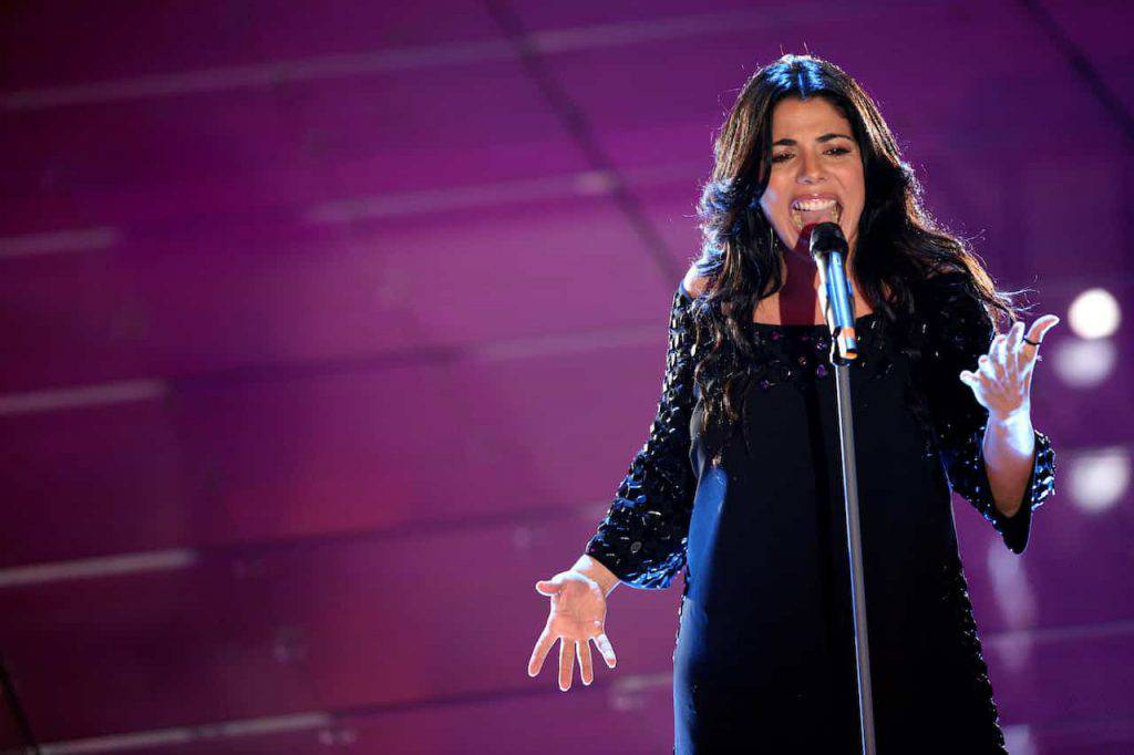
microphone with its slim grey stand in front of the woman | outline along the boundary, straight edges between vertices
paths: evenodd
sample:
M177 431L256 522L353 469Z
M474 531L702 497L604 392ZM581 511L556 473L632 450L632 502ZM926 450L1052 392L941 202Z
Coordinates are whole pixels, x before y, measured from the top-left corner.
M847 523L847 552L850 561L862 752L864 755L874 755L874 696L870 682L866 589L862 567L862 529L858 520L858 469L854 456L854 416L850 405L850 365L858 356L858 345L855 336L854 295L844 266L847 241L836 223L819 223L812 229L811 255L819 265L820 289L826 288L827 291L826 313L827 324L831 330L831 364L837 376L843 499Z

